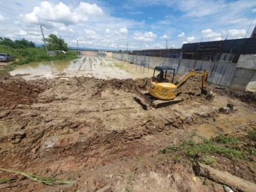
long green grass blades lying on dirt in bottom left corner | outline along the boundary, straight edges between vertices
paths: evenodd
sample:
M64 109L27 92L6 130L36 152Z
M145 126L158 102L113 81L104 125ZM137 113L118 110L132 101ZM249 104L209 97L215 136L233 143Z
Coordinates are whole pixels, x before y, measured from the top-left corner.
M37 176L34 174L30 174L28 172L20 172L20 171L15 171L15 170L6 170L3 168L0 168L0 170L5 171L5 172L11 172L15 174L21 174L22 176L28 177L29 179L32 179L32 181L37 181L40 183L44 183L46 185L58 185L58 184L73 184L76 181L63 181L63 180L54 180L54 179L49 179L48 177L42 177L42 176ZM3 179L5 181L11 181L7 179Z

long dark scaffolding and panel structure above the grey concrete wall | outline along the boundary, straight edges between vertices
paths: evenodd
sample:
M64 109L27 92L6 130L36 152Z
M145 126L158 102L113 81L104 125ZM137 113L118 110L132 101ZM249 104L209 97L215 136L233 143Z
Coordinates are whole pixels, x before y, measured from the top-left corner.
M255 32L253 34L255 36ZM183 44L181 49L135 50L129 55L143 55L146 52L151 57L164 57L163 65L168 66L175 64L175 58L237 63L240 55L256 54L256 38L254 36L236 40Z

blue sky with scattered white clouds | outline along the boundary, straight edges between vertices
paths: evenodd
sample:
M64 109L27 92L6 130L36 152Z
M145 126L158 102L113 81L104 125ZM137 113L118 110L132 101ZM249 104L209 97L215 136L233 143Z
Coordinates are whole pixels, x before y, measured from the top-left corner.
M254 18L254 19L253 19ZM251 21L253 20L252 24ZM98 49L181 48L183 43L244 38L256 24L256 1L22 0L0 5L0 37Z

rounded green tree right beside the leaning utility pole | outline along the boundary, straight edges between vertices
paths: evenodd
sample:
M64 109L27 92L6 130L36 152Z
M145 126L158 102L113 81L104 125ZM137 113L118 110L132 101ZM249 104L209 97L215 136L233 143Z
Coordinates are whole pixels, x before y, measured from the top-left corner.
M55 34L49 34L48 38L46 38L48 49L50 50L63 50L67 51L67 44L61 37L57 37Z

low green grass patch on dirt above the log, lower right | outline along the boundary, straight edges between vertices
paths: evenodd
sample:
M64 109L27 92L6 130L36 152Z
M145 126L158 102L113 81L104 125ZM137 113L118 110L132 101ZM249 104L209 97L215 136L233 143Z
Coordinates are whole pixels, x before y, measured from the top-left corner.
M251 134L253 135L253 134ZM172 145L168 148L163 148L159 152L162 154L170 154L176 152L175 160L179 162L178 156L186 156L192 161L199 159L205 164L216 164L214 158L208 156L218 154L227 158L247 159L249 156L255 156L255 148L250 148L251 151L246 151L236 147L236 143L240 141L238 137L219 135L212 139L203 139L201 142L195 142L196 133L193 133L187 140L181 140L179 144ZM251 136L254 138L254 136Z

